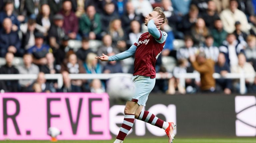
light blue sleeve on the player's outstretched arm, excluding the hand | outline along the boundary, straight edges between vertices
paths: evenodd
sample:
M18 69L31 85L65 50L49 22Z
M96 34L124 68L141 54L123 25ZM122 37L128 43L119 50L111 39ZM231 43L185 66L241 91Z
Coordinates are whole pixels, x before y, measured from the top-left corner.
M128 50L126 50L124 52L121 52L121 53L113 55L113 56L109 56L108 61L118 61L118 60L123 60L123 59L129 58L135 54L136 49L137 49L137 46L132 45Z

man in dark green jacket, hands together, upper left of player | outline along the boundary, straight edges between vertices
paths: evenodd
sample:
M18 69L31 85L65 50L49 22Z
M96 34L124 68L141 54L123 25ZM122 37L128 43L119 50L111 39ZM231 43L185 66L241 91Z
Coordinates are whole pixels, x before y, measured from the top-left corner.
M101 35L101 18L96 13L94 6L88 6L86 14L83 14L79 20L79 30L83 37L89 39L100 39Z

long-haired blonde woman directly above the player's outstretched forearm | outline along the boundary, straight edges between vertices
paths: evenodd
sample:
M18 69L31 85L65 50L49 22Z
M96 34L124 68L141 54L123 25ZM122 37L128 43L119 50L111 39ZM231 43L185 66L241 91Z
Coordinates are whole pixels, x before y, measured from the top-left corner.
M126 50L126 35L124 34L120 19L115 19L110 23L109 35L112 37L113 44L115 44L120 51Z

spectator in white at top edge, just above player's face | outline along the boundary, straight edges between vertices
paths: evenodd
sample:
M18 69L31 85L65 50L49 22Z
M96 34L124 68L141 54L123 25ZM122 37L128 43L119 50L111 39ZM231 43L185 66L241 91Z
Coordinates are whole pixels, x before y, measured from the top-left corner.
M146 17L151 11L153 11L153 7L148 0L131 0L136 14L142 14Z

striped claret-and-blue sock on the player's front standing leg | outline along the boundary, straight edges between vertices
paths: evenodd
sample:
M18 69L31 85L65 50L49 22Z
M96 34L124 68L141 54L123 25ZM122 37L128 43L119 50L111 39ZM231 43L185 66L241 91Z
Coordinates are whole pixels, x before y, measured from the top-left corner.
M119 131L116 139L121 140L121 141L124 140L124 138L126 137L126 135L128 134L128 132L130 131L130 129L133 126L134 118L135 118L134 114L125 114L124 115L124 121L123 121L123 124L120 128L120 131ZM118 140L116 140L116 141L118 141ZM115 141L115 143L116 143L116 141ZM119 142L117 142L117 143L119 143Z

